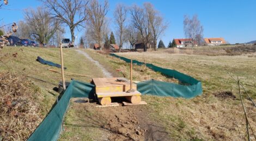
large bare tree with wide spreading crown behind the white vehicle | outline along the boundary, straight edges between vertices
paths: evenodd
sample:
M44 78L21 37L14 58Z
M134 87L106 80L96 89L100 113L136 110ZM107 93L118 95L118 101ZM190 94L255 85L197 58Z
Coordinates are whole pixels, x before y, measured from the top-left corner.
M75 28L83 26L87 19L87 0L41 0L51 10L51 16L69 26L71 42L75 42Z

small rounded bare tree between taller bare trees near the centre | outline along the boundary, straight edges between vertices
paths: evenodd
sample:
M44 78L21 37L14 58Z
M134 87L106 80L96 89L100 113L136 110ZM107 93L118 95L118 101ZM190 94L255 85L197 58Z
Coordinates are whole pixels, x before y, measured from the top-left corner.
M134 28L131 24L128 25L128 27L126 28L126 40L129 41L129 43L132 46L132 49L135 49L135 44L138 41L138 31L136 30L136 28Z

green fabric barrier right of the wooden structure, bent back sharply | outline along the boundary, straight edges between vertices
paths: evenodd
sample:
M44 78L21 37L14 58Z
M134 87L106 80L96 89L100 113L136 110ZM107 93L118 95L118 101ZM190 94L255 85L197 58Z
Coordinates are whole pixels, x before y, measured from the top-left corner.
M127 59L126 57L118 56L116 54L111 54L111 56L118 57L127 63L131 62L131 60ZM137 60L132 60L132 63L139 66L144 65L143 62L139 62ZM191 76L180 73L173 69L157 67L151 63L145 63L145 66L154 70L155 72L160 72L163 75L179 80L180 84L156 80L139 82L137 84L137 89L142 94L158 95L162 97L171 96L193 98L203 93L201 82L192 78Z

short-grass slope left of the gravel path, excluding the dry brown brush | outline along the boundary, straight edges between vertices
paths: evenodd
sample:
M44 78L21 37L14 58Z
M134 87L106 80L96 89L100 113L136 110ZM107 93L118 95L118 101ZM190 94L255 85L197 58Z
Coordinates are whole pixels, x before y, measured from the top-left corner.
M23 50L23 51L22 51ZM41 79L47 82L42 82L33 78L27 77L27 79L33 82L29 88L33 89L36 94L36 100L40 103L42 108L42 113L44 116L48 113L51 109L53 103L55 102L56 98L58 97L58 93L53 91L53 87L58 87L58 82L61 80L61 75L58 73L50 72L47 70L50 69L57 69L56 67L51 67L48 65L42 65L38 61L36 61L37 56L41 56L43 59L52 61L55 63L60 63L59 59L59 48L28 48L22 47L21 48L14 48L14 47L5 47L4 49L0 50L0 57L4 56L7 53L7 57L4 57L0 62L0 71L2 72L12 72L18 75L26 75L31 76L33 78ZM17 57L12 57L12 54L17 53ZM81 54L78 54L74 49L63 49L64 55L64 66L67 67L66 71L73 72L73 73L80 73L90 75L92 77L102 77L103 74L101 70L99 70L92 62L87 60ZM70 81L71 78L75 80L81 80L85 82L89 82L88 77L81 77L81 76L70 76L65 75L66 81ZM51 82L53 84L50 84ZM74 110L70 110L69 112L74 112ZM69 117L68 118L74 118ZM75 129L77 130L77 129ZM74 130L74 131L75 131Z

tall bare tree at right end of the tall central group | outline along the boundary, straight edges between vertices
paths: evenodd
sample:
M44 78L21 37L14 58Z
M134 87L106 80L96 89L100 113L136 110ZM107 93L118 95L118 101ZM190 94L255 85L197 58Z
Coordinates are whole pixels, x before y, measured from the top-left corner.
M160 12L154 9L153 4L144 3L146 16L150 24L150 30L154 40L154 49L156 50L157 39L167 28L167 23L164 23Z

